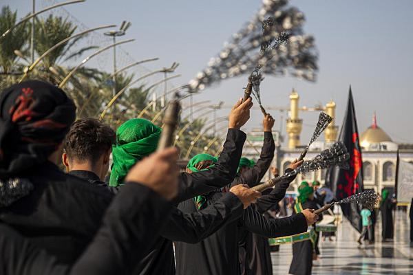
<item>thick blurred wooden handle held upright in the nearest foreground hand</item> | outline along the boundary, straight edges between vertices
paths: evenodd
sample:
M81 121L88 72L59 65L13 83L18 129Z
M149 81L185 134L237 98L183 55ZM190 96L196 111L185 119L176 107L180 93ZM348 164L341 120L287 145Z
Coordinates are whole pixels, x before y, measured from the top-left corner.
M158 143L158 151L172 146L173 133L178 125L179 111L180 103L178 100L173 100L173 102L169 103L163 119L164 126Z

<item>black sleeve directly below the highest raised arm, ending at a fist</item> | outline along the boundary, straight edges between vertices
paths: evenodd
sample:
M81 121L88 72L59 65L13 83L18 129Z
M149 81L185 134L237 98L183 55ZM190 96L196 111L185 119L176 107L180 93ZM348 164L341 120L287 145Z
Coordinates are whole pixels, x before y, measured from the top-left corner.
M232 192L198 212L183 213L174 208L160 234L171 241L198 243L223 225L239 219L243 208L240 199Z

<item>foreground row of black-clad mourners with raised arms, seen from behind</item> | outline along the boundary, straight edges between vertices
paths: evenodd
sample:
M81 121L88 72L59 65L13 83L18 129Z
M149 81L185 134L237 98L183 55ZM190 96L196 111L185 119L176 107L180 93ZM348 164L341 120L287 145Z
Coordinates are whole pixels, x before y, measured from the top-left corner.
M74 102L50 83L4 90L0 274L267 274L254 257L263 249L257 238L306 232L319 217L308 186L294 214L263 215L295 176L251 190L275 151L266 115L260 158L242 157L240 129L252 106L251 98L234 104L218 157L195 155L180 172L178 149L157 150L162 129L148 120L132 118L115 132L94 118L75 121Z

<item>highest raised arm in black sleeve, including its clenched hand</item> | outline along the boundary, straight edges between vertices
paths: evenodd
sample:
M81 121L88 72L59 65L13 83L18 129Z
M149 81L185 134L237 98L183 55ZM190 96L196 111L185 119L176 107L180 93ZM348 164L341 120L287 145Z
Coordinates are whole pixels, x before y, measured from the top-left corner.
M244 103L242 100L238 100L229 115L229 129L218 162L208 170L198 173L181 173L178 179L179 192L178 197L174 200L175 203L211 192L233 181L240 163L242 146L244 146L246 139L246 134L240 131L240 127L249 119L249 110L252 106L251 98Z

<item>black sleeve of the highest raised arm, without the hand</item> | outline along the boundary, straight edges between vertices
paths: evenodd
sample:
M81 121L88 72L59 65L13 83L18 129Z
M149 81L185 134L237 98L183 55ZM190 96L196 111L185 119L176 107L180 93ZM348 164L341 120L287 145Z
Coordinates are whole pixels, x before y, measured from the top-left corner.
M245 139L244 132L228 129L218 162L208 170L191 174L180 173L179 194L173 202L180 203L230 184L237 173Z

